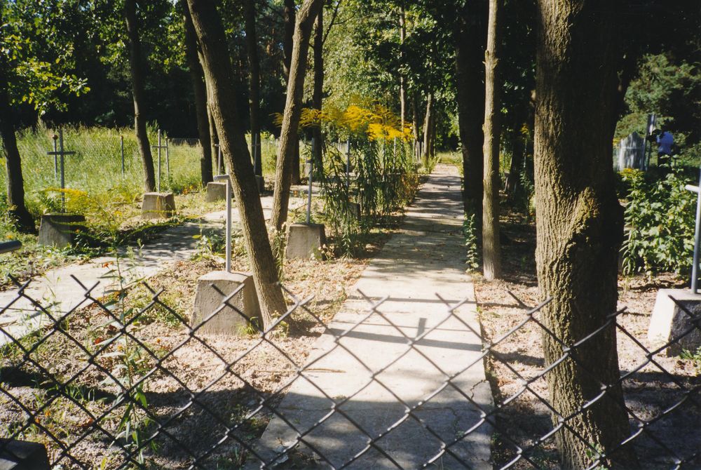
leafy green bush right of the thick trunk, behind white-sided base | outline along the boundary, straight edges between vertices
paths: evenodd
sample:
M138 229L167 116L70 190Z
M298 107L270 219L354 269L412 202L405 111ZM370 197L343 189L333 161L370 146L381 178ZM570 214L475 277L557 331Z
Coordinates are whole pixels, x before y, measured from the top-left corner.
M695 195L689 181L674 170L660 180L646 180L639 170L624 170L629 187L625 208L623 272L688 271L692 264Z

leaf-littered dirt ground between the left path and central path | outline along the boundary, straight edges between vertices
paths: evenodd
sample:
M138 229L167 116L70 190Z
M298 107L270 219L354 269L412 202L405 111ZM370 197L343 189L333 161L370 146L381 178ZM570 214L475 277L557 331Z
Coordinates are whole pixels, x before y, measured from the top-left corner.
M389 231L372 239L366 255L380 248ZM308 300L306 309L328 321L366 260L286 262L288 304ZM206 468L238 468L245 459L243 444L264 431L271 417L268 406L284 394L323 328L300 307L266 340L252 330L241 337L190 335L186 322L196 280L215 269L223 269L219 260L205 257L178 262L151 278L148 285L155 293L162 290L158 300L168 309L159 304L149 307L154 294L136 286L123 305L108 307L124 316L119 323L111 321L104 307L93 304L71 314L53 333L44 331L42 341L38 335L22 340L27 354L6 347L0 359L0 437L23 429L18 438L45 443L51 460L64 469L116 468L124 459L119 445L128 448L158 432L141 456L135 453L136 461L177 469L200 457ZM246 269L245 257L233 260L233 270ZM90 359L91 355L95 357ZM114 407L121 389L108 372L123 385L143 381L142 394L135 398L143 398L148 414L140 408ZM22 408L32 414L39 411L34 422L27 422ZM61 459L66 455L71 457Z

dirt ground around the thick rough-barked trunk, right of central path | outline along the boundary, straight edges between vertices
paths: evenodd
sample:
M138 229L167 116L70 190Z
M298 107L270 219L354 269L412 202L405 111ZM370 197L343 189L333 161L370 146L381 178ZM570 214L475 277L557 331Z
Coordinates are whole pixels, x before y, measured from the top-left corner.
M475 276L479 313L486 340L496 340L526 320L529 307L538 304L535 265L535 236L533 224L524 223L510 215L503 221L503 281L486 282ZM671 274L653 278L644 276L620 278L619 308L626 311L618 316L618 354L621 374L636 370L623 382L626 405L629 408L632 432L638 431L640 419L652 420L665 410L687 398L679 408L651 424L635 440L635 449L644 469L701 469L701 457L681 467L674 460L688 459L701 448L701 402L698 391L701 377L697 364L679 357L661 354L647 362L649 348L647 329L658 288L685 284ZM522 304L519 302L522 302ZM536 314L536 318L540 318ZM624 333L627 331L641 346ZM523 380L529 380L545 368L541 335L543 330L529 321L508 336L490 355L487 374L496 403L503 403L522 390ZM669 372L669 373L667 373ZM538 438L552 430L550 414L543 403L549 401L545 378L529 384L529 389L505 405L496 415L496 434L492 442L495 467L501 468L517 457L517 446L526 450L513 469L559 469L554 439L538 443ZM686 395L686 390L692 393ZM539 398L540 397L540 398Z

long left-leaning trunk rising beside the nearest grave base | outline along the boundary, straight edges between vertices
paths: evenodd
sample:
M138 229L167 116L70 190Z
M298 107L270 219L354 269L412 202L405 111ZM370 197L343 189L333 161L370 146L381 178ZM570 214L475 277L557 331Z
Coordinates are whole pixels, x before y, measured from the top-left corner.
M209 0L188 0L193 25L200 40L203 67L210 90L210 107L217 125L219 145L229 161L233 192L238 201L243 237L266 328L275 315L285 312L285 298L278 285L278 269L266 230L263 208L245 133L237 113L233 69L221 18Z

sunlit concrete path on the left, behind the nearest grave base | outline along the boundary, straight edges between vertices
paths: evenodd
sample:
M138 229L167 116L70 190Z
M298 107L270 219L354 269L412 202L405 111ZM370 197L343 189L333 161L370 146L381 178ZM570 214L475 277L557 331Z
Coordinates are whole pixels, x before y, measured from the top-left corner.
M267 220L271 215L273 196L261 197L261 204ZM291 208L303 204L302 199L290 199ZM233 228L236 229L236 222L240 221L236 206L231 209L231 215ZM193 236L200 234L202 229L219 229L223 233L225 219L226 210L205 214L199 222L186 222L165 229L141 249L132 248L133 253L127 253L127 248L121 248L121 269L125 281L147 279L163 271L172 262L189 260L197 252L197 240ZM69 264L51 269L41 277L34 278L24 292L27 297L39 301L52 315L60 316L70 309L90 303L85 297L86 290L83 286L92 288L95 283L100 283L91 292L93 297L102 297L107 290L114 288L115 280L109 277L109 271L115 267L114 262L114 256L102 256L85 264ZM0 292L0 328L15 338L27 335L41 321L48 320L27 297L18 297L16 288ZM11 342L10 338L0 332L0 346L8 342Z

